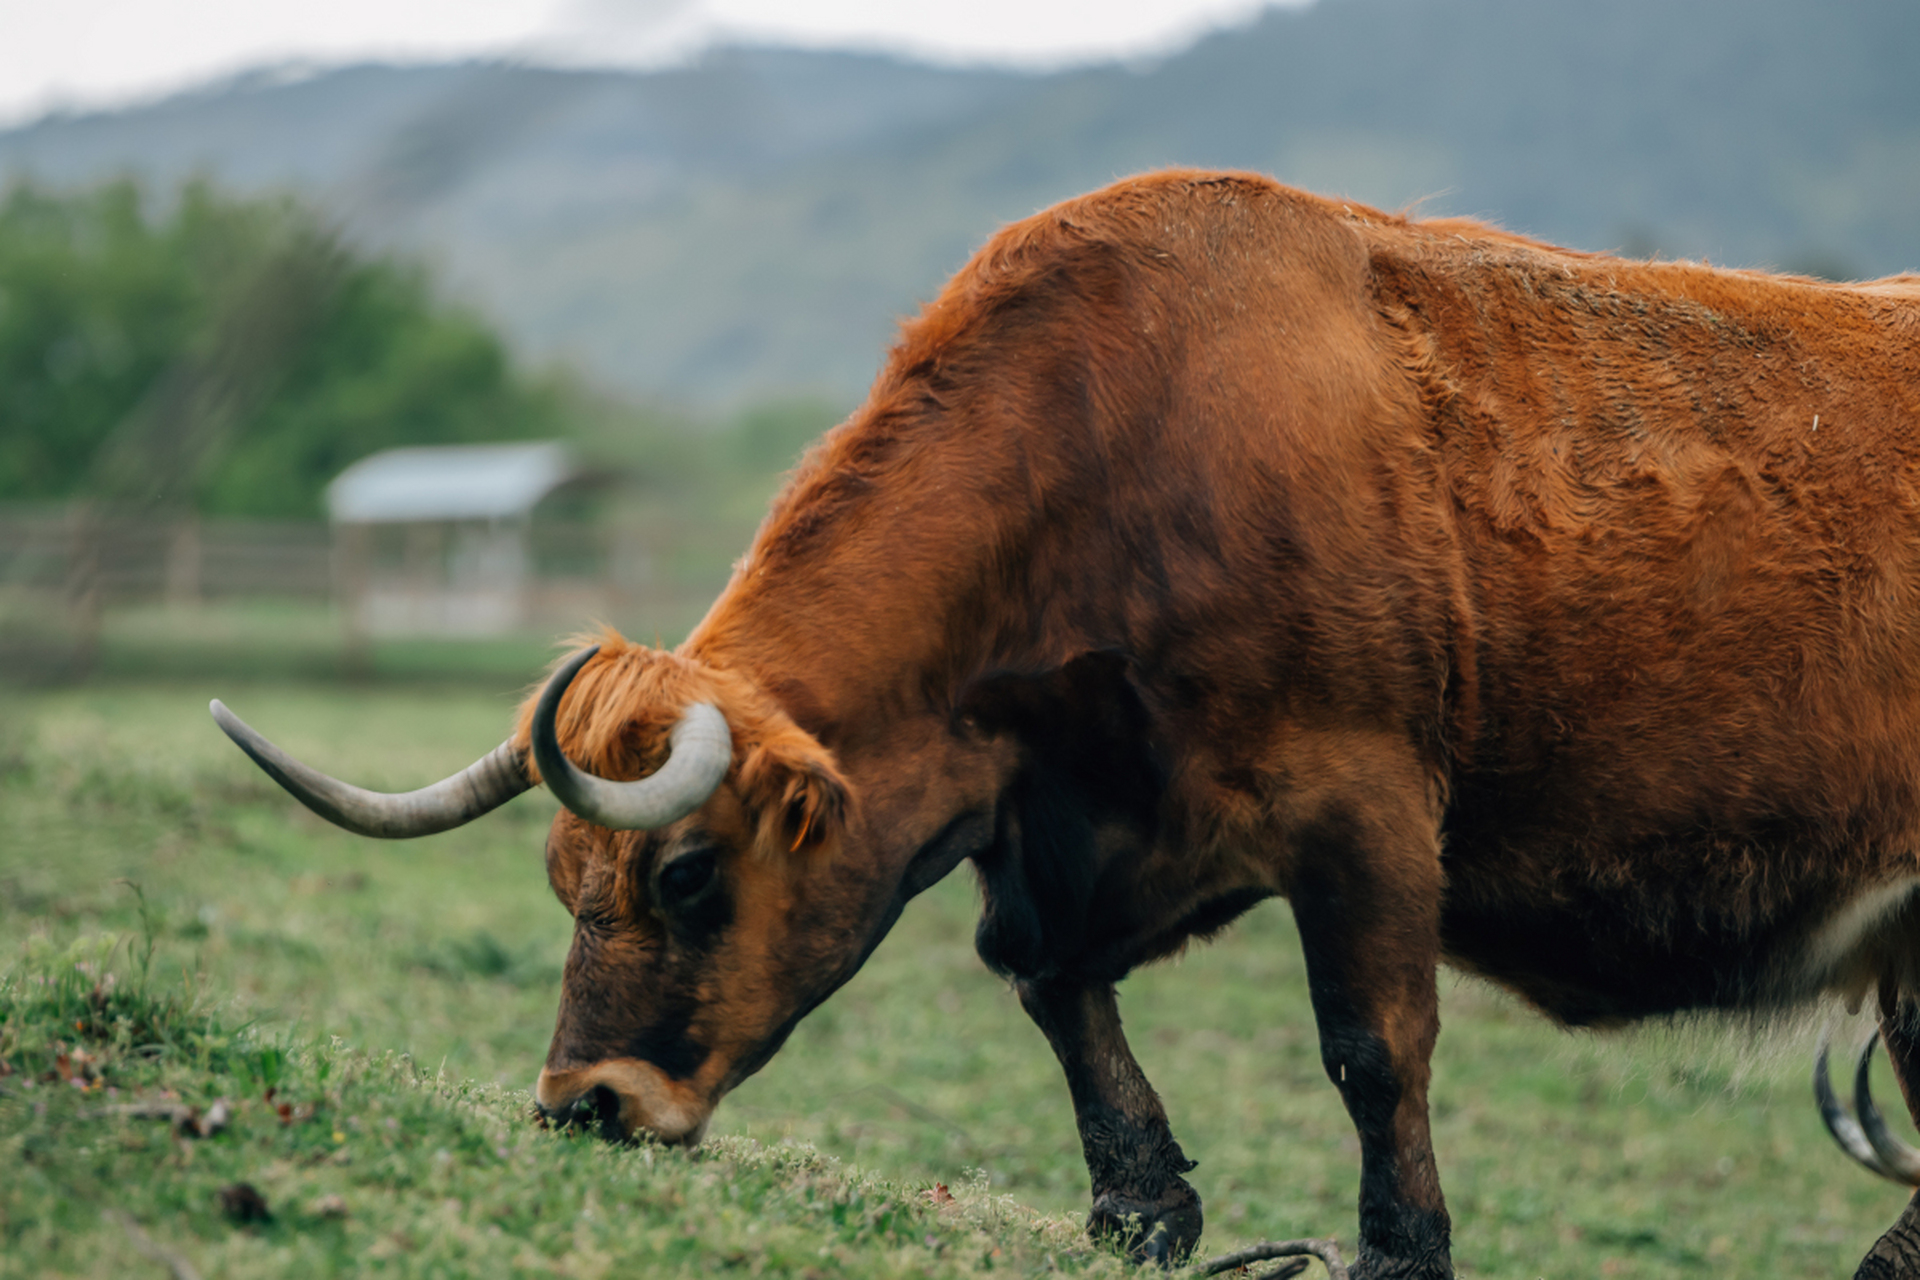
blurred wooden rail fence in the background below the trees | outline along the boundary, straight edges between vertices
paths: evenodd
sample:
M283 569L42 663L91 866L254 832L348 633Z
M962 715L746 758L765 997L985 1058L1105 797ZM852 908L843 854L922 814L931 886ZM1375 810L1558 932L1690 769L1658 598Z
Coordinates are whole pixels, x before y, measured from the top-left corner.
M597 620L653 633L697 618L726 578L730 555L689 537L701 532L639 518L432 530L0 509L0 666L86 672L108 610L156 604L330 606L348 666L392 635L564 631ZM474 580L476 555L509 562L515 576Z

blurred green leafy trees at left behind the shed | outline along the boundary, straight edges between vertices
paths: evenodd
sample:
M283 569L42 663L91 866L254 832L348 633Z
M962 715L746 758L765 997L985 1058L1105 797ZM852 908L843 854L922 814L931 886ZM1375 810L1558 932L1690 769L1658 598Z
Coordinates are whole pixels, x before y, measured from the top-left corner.
M127 180L0 198L0 501L315 516L376 449L576 416L424 271L348 249L294 200L194 182L156 213Z

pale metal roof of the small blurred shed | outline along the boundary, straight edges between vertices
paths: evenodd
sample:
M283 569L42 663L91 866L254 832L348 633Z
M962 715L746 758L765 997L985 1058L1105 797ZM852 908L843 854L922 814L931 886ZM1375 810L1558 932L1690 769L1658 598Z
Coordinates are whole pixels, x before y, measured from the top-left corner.
M505 520L524 516L580 476L566 445L422 445L369 453L326 486L326 512L342 524Z

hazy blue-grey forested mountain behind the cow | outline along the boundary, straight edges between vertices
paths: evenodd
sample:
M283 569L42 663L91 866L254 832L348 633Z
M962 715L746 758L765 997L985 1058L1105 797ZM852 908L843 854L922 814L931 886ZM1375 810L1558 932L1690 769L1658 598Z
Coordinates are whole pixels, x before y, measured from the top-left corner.
M294 184L626 391L851 401L998 225L1160 165L1561 244L1920 267L1912 0L1321 0L1052 75L714 50L261 73L0 132L0 173Z

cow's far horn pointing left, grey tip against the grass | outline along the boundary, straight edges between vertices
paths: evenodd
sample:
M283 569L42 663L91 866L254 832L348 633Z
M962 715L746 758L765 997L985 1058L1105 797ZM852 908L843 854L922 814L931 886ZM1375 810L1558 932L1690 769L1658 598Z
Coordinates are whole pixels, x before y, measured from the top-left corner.
M405 841L449 831L497 810L534 785L526 775L526 754L509 739L432 787L401 794L363 791L294 760L227 710L219 699L213 699L207 710L227 737L267 771L267 777L326 821L359 835Z

